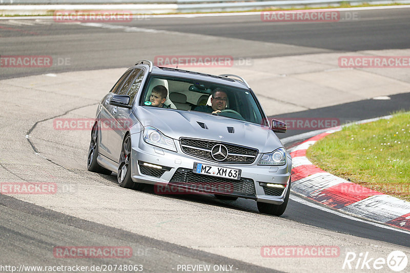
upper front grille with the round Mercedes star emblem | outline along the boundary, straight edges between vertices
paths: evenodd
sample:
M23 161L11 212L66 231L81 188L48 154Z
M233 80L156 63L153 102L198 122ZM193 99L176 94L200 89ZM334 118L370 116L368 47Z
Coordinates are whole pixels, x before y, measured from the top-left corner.
M213 162L251 164L255 161L256 155L258 154L258 150L256 149L227 143L186 138L181 138L180 142L183 152ZM212 148L217 144L222 144L228 149L228 156L225 160L223 160L223 156L221 155L216 155L216 158L212 157ZM217 150L216 147L214 150Z

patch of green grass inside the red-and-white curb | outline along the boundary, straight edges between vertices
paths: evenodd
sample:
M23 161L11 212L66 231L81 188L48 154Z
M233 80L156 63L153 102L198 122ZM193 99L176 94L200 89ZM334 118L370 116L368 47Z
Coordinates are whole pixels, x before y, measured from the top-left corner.
M306 156L336 176L410 201L410 112L344 127L311 146Z

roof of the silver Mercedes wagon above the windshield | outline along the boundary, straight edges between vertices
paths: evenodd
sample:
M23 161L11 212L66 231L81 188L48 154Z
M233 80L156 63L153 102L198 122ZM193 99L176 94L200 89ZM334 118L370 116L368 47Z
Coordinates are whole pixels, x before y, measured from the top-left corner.
M147 69L150 68L150 66L147 64L139 64L136 66L145 66L147 67ZM200 72L195 72L195 71L183 70L183 69L176 69L172 67L163 67L163 66L153 65L151 73L155 75L161 75L161 76L189 78L189 79L195 79L198 81L208 81L208 82L213 82L217 84L229 85L232 87L250 89L246 84L244 84L243 82L237 79L232 79L232 78L217 76L217 75L211 75L211 74L205 74L205 73L200 73Z

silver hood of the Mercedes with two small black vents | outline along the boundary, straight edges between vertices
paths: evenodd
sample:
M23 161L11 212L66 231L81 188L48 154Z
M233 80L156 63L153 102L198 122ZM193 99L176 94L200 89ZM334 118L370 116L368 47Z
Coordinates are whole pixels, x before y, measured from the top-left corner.
M142 126L155 127L176 140L182 137L233 143L262 153L283 147L269 127L227 117L144 106L137 107L134 115Z

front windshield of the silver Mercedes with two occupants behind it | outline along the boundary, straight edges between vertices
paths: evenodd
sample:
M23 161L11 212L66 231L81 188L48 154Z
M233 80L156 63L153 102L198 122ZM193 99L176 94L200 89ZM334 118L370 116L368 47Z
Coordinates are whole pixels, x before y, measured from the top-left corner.
M198 111L265 125L259 103L249 89L213 82L152 75L140 105Z

